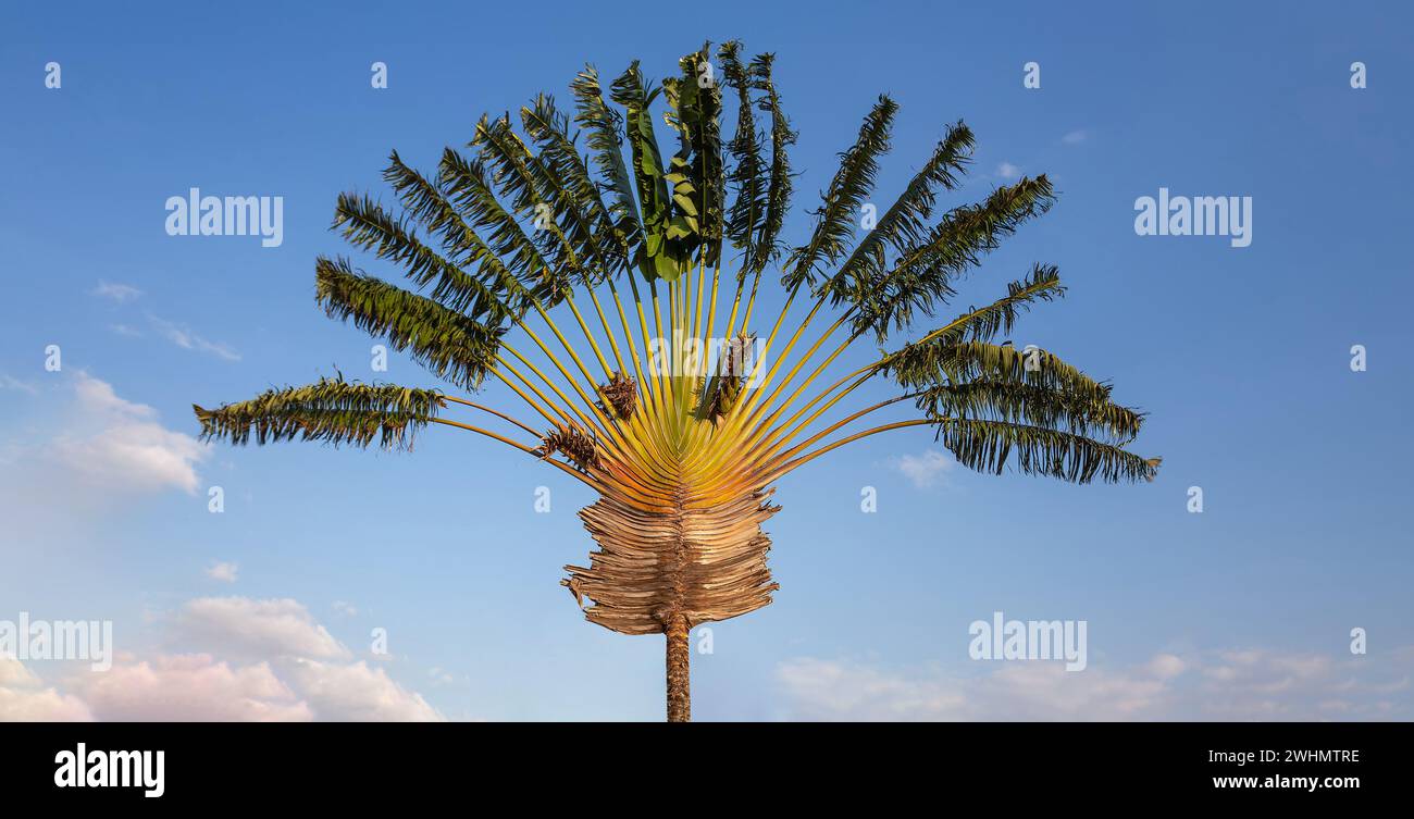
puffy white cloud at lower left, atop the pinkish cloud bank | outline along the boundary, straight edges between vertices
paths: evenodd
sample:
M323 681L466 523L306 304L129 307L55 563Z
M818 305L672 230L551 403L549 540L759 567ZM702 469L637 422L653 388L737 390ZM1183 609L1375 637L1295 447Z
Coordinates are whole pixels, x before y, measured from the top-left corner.
M296 600L199 597L174 617L180 638L253 658L348 658L349 649Z

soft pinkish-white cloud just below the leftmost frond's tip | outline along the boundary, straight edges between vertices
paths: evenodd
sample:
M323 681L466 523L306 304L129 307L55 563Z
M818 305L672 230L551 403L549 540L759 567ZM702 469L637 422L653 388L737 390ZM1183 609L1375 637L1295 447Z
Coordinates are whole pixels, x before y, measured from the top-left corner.
M117 396L112 385L86 372L75 382L78 423L59 433L48 454L68 470L106 489L178 488L195 494L197 464L209 448L157 423L157 412Z

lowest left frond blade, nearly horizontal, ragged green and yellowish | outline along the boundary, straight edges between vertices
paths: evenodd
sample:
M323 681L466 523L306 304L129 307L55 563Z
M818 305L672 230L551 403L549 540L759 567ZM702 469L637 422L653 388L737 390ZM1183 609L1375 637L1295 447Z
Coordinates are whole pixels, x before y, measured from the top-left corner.
M250 400L208 410L192 405L201 438L232 444L322 441L410 448L411 430L427 426L445 406L434 389L346 382L344 376L267 390Z

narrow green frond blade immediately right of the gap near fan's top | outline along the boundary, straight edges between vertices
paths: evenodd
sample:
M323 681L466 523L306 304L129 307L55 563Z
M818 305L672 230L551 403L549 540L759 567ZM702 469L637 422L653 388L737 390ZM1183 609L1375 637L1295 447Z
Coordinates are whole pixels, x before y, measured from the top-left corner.
M860 136L854 144L840 154L840 170L823 194L823 202L814 211L816 222L810 240L796 248L786 260L786 273L781 283L786 290L802 284L814 286L823 274L824 265L833 265L844 256L847 242L854 236L865 199L874 191L878 175L878 160L888 153L889 132L898 103L887 95L864 117Z

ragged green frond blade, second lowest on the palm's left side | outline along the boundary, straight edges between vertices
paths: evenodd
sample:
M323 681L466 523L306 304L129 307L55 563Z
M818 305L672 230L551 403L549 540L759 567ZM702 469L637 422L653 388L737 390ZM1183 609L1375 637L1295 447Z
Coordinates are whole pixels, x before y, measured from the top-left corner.
M315 262L315 297L331 318L352 318L359 330L387 338L437 376L468 389L491 372L505 332L359 273L346 259Z

